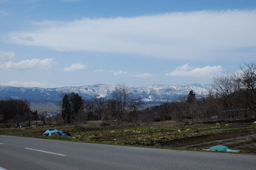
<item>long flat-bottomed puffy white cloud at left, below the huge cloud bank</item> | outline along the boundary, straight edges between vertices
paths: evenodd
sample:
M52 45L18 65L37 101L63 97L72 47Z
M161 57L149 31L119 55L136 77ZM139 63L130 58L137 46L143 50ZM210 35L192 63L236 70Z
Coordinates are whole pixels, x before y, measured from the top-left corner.
M40 69L48 70L52 67L53 64L56 64L53 59L26 59L21 62L5 62L0 63L0 69L9 69L9 70L22 70L22 69Z

